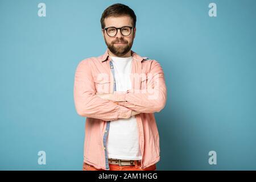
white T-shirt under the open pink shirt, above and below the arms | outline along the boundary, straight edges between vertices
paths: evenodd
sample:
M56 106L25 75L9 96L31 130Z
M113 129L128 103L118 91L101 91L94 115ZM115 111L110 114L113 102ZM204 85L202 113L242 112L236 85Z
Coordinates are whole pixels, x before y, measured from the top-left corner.
M110 58L114 65L116 90L131 89L130 73L133 57L110 56ZM108 157L141 160L138 135L137 120L134 115L130 118L111 121L106 144Z

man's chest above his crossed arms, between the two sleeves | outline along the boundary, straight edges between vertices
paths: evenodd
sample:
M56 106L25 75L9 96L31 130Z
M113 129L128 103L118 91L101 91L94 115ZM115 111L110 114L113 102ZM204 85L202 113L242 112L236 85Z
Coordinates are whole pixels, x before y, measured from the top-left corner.
M146 89L148 68L133 60L131 64L117 65L110 61L92 69L95 90L98 93L113 93L115 90Z

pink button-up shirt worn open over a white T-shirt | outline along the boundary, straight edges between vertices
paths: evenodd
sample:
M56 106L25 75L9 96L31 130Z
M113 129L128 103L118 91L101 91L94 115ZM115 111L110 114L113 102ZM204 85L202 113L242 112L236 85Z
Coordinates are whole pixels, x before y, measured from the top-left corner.
M80 61L75 73L74 101L76 111L86 117L84 162L97 169L109 170L106 136L109 122L135 115L142 152L141 168L160 160L159 134L154 117L166 105L167 89L163 69L156 60L147 60L134 51L131 68L132 89L114 90L114 74L108 49L104 55ZM114 93L114 100L100 98L96 93ZM127 136L129 137L129 136Z

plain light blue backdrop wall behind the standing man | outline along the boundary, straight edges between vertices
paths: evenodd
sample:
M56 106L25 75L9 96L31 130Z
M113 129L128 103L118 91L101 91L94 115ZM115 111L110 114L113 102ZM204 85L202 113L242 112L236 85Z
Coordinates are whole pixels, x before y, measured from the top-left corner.
M73 102L75 70L105 52L100 18L116 2L137 15L132 49L158 60L166 77L167 104L155 114L157 168L255 170L254 0L1 0L0 169L81 170L85 118ZM40 150L46 165L38 165ZM217 165L208 163L211 150Z

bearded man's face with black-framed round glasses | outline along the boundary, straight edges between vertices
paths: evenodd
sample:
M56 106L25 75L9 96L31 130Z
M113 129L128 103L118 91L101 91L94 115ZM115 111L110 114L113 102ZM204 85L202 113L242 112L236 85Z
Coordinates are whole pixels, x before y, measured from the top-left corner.
M105 20L105 28L116 27L121 28L123 26L133 27L133 19L130 16L110 16ZM105 43L109 50L117 57L126 56L133 46L133 39L135 38L136 28L131 30L131 34L128 36L123 36L121 30L117 31L117 35L110 37L105 30L102 30L102 34L105 39Z

